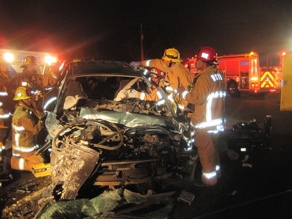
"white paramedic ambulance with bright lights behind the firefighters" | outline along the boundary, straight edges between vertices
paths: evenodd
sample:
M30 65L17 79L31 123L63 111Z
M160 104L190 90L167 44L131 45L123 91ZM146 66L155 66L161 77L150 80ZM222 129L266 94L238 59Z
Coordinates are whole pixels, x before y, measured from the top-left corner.
M61 62L56 53L0 49L0 54L3 54L5 60L10 63L8 68L11 71L11 76L23 71L23 68L20 68L20 65L22 64L24 57L29 55L36 57L38 65L36 71L38 74L43 74L46 63L54 65Z

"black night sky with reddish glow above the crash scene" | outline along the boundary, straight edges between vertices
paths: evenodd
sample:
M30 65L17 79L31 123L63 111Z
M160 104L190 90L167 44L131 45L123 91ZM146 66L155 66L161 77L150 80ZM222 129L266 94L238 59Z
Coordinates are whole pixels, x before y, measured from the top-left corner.
M175 47L186 60L200 46L218 55L292 48L292 4L271 0L1 1L0 48L54 52L61 59L130 62Z

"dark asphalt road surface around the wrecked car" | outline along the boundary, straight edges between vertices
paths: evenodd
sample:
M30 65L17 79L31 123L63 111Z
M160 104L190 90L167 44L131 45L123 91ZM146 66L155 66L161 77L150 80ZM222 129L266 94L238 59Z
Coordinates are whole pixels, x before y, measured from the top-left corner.
M218 149L222 177L215 186L195 186L190 180L189 166L160 182L160 192L176 192L169 199L126 214L109 214L106 218L290 218L292 111L280 111L280 99L281 94L242 94L226 98L227 127L253 119L264 126L265 117L271 115L272 131L271 137L263 130L259 132L258 150L248 153L244 162L241 160L245 154L239 153L239 159L233 160L235 154L228 149L233 131L221 133ZM200 171L198 162L195 180L200 177ZM40 193L49 180L49 177L35 178L23 171L13 180L3 182L0 187L2 218L33 218L36 213L31 209L30 198ZM178 200L183 191L194 196L189 204Z

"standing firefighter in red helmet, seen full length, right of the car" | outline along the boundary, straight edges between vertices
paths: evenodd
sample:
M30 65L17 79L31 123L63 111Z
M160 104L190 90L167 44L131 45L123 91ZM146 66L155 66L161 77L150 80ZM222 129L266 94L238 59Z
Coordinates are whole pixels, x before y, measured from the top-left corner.
M196 56L197 75L194 88L178 89L180 97L194 104L191 125L194 127L194 143L198 148L202 164L202 181L195 185L215 185L221 176L219 153L216 148L218 131L223 131L224 98L226 96L225 78L217 72L216 52L213 48L202 47Z

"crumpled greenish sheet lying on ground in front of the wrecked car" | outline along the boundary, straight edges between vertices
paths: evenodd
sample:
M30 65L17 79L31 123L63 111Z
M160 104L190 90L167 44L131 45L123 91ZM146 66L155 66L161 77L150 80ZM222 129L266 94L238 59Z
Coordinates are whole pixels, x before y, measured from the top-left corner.
M160 202L163 199L167 199L174 193L175 192L169 192L146 196L120 188L110 192L105 192L90 200L77 199L48 203L38 212L35 219L105 218L109 214L124 214L145 208L149 205ZM168 204L164 204L164 206L167 205L172 206L172 201ZM169 209L169 211L162 212L168 215L172 208L168 207L167 209Z

